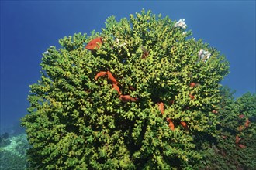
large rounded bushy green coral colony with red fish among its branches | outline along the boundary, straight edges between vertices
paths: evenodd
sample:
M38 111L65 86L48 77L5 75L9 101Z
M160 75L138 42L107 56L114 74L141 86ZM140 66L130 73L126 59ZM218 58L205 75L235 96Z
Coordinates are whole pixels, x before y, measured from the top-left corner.
M210 140L224 136L216 124L220 81L229 67L225 56L189 38L186 28L185 19L156 19L143 10L121 22L110 17L102 33L74 34L60 39L61 49L50 47L43 54L42 80L31 85L30 114L22 119L33 146L29 165L206 166L202 153L220 151ZM247 119L243 129L250 127ZM223 140L247 149L244 137L227 136Z

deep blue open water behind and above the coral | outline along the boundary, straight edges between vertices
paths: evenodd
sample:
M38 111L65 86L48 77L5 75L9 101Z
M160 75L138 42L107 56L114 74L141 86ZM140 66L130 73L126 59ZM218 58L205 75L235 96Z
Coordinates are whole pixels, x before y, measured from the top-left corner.
M40 80L49 46L77 32L100 32L110 15L129 18L142 8L185 19L195 39L227 56L230 74L222 84L236 97L255 93L255 1L1 1L1 134L27 114L29 85Z

